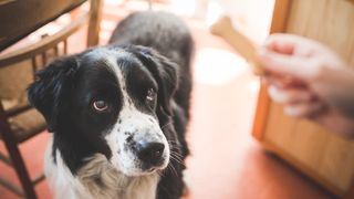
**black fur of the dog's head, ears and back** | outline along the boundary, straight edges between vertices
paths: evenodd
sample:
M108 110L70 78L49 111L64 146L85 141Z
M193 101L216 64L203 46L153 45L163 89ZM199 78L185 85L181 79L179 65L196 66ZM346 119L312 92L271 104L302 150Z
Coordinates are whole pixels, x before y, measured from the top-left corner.
M124 73L131 81L127 91L134 95L132 103L144 112L154 109L150 114L158 118L166 138L173 140L170 150L178 154L181 161L170 159L169 167L174 169L164 171L157 198L180 198L183 163L189 154L185 139L194 51L189 30L173 14L139 12L123 20L110 42L105 48L124 50L139 61L136 63L128 56L117 60L119 65L126 65ZM29 101L43 114L49 130L54 133L54 149L61 151L73 175L86 157L101 153L110 158L115 153L110 150L102 135L112 128L122 108L119 83L106 63L87 55L92 51L54 61L37 74L28 90ZM145 107L139 97L147 85L158 88L154 108ZM110 101L112 109L105 114L94 113L90 107L96 96Z

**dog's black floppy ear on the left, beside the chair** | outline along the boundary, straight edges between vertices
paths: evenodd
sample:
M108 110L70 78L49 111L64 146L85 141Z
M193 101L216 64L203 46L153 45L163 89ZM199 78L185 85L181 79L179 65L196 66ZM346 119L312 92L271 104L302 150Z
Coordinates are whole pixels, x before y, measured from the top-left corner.
M49 132L55 132L59 118L65 117L77 69L75 57L62 57L38 72L28 88L29 102L44 116Z

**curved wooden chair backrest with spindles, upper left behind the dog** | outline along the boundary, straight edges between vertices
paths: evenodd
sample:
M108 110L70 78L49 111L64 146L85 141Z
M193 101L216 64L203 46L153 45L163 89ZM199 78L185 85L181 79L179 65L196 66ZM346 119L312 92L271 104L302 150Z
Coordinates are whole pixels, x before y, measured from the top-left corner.
M0 0L0 51L39 28L72 11L86 0ZM0 100L4 109L25 98L32 74L56 56L66 54L67 38L88 24L87 46L98 43L102 0L90 0L90 10L52 35L35 43L0 53ZM90 30L90 31L88 31ZM15 101L14 101L15 100Z

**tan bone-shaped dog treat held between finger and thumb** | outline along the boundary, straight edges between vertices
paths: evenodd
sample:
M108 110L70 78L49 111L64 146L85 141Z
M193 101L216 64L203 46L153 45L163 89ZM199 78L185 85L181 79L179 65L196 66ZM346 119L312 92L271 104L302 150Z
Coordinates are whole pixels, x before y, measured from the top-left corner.
M221 36L231 44L241 56L253 67L257 75L263 75L264 71L258 62L256 44L238 30L233 29L229 17L220 18L210 29L211 33Z

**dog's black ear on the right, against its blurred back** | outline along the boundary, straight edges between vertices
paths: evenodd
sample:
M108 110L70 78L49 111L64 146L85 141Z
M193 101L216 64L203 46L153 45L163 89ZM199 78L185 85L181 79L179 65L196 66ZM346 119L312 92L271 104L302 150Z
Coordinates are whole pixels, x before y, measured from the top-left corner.
M170 100L178 85L178 65L153 49L144 46L134 48L134 54L149 70L158 84L158 104L162 108L159 111L170 116Z

